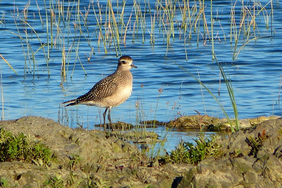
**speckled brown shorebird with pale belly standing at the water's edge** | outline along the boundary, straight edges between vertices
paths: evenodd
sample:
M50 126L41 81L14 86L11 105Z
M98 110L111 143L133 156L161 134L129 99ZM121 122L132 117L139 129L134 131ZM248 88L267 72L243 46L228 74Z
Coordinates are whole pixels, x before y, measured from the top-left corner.
M76 99L63 102L63 104L69 103L65 105L65 107L83 104L106 108L103 113L105 131L107 110L109 110L108 120L112 127L111 108L120 105L131 95L133 77L130 69L132 67L137 68L133 65L131 57L121 56L118 59L118 67L113 74L98 81L86 94Z

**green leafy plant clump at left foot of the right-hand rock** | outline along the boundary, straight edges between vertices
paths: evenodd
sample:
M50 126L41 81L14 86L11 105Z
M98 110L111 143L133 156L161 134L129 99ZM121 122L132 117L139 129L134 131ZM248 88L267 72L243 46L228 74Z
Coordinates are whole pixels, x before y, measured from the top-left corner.
M194 140L196 145L190 142L181 142L171 154L166 152L163 157L165 163L190 163L197 164L210 156L219 156L220 145L216 143L218 136L211 136L210 139L201 133L199 139Z

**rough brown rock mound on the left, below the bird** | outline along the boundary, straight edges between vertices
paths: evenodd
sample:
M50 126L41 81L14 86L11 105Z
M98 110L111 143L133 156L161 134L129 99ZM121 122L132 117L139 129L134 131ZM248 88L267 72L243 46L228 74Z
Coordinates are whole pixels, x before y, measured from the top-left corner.
M171 187L175 177L191 167L176 164L160 167L158 162L150 165L139 149L125 141L106 139L102 131L70 129L38 116L0 121L0 127L16 135L21 132L30 135L31 140L41 141L57 156L50 167L0 162L0 180L5 178L10 187L50 187L44 182L54 175L62 180L57 187ZM68 156L75 154L81 160L70 168Z

